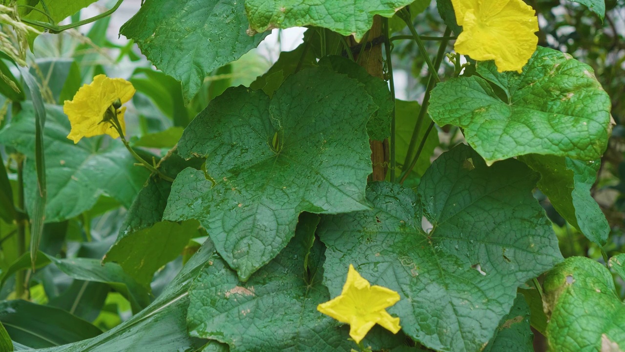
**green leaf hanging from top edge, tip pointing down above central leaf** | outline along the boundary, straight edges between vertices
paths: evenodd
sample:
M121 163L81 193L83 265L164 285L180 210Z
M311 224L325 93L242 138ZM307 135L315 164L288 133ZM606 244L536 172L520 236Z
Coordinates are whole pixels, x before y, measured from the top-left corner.
M181 81L188 103L204 77L237 60L267 35L248 36L243 1L147 0L120 33L154 66ZM175 10L175 11L174 11Z

